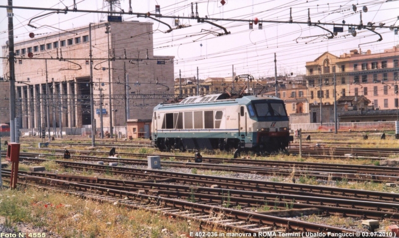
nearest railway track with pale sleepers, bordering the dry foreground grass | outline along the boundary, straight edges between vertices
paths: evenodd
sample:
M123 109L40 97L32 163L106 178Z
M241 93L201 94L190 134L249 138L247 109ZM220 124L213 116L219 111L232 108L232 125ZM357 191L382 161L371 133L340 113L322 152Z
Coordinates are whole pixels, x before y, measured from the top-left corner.
M3 176L8 177L9 175L5 172ZM57 175L48 174L46 176L54 177ZM152 190L147 190L145 193L141 193L140 190L133 191L132 187L130 186L131 184L127 186L127 183L130 183L131 181L104 180L99 178L83 178L76 176L69 176L66 181L62 180L62 175L60 176L61 178L56 177L55 179L22 174L18 175L18 177L20 181L19 183L21 183L21 181L35 183L36 186L42 189L75 194L87 199L100 200L114 204L118 203L122 206L133 207L136 209L146 209L157 213L161 212L168 216L197 220L199 222L202 222L203 224L211 224L213 226L225 229L234 229L236 231L244 233L258 234L262 231L276 231L276 229L279 229L277 231L282 231L284 233L298 230L323 233L356 233L356 231L342 228L335 228L331 226L301 222L287 218L268 216L249 211L230 209L229 205L223 206L223 204L225 203L223 202L223 199L220 200L221 196L209 195L207 192L195 193L195 196L199 196L198 199L200 199L200 201L193 203L182 200L182 198L186 198L184 192L157 190L156 188L152 188ZM88 183L87 181L90 181L90 183ZM103 185L98 185L98 183L102 183ZM119 185L123 184L124 186L114 186L110 185L111 183L117 183ZM127 189L129 189L130 191L127 191ZM192 192L191 195L187 195L186 193L186 196L192 196L192 194ZM262 193L262 195L264 196L264 193ZM259 196L261 197L262 195L259 194ZM172 199L171 197L176 198ZM238 200L241 200L242 203L244 203L245 205L249 203L249 200L251 200L251 202L253 202L253 200L256 200L255 198L248 200L248 198L235 196L231 196L230 199L231 198L236 200L234 201L235 203L239 203ZM246 199L246 201L243 201L243 199ZM262 197L262 199L264 198ZM232 201L230 200L230 202ZM348 201L346 201L346 203L348 203ZM358 205L362 202L359 203L359 201L355 201L353 203L356 203ZM367 203L366 207L370 209L371 204L372 202ZM377 206L378 208L380 208L380 210L381 207L385 208L385 206L396 206L396 204L389 205L390 203L377 204L379 204ZM348 208L346 211L350 211L351 209L356 210L356 208L353 208L353 204L351 205L351 207L352 208ZM363 209L364 208L365 204L363 204ZM340 209L338 208L338 210ZM371 213L370 210L368 211ZM380 211L373 211L373 213L375 214L378 214L379 212ZM352 214L350 212L347 213ZM385 212L386 215L388 213L389 212ZM355 216L359 216L359 214L356 214ZM392 218L395 219L395 215L393 215Z

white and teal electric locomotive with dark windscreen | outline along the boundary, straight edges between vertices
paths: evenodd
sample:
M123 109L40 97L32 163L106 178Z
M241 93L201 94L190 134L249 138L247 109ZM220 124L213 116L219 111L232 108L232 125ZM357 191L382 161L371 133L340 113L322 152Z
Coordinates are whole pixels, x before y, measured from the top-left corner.
M151 144L161 151L220 149L273 152L288 147L284 101L229 93L187 97L154 108Z

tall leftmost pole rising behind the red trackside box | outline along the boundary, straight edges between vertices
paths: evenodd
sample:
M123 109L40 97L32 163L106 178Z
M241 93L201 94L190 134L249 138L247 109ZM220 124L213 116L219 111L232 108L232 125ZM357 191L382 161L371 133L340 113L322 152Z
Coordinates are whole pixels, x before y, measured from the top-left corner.
M8 0L12 6L12 0ZM12 8L7 8L8 16L8 64L9 64L9 128L10 141L15 142L15 72L14 72L14 24Z

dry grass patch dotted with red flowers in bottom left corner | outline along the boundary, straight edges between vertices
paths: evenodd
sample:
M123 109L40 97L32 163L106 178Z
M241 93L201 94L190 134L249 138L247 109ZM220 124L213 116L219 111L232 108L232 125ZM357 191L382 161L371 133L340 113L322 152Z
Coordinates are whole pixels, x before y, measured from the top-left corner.
M0 215L11 223L44 226L65 238L171 238L199 231L195 222L24 187L0 190Z

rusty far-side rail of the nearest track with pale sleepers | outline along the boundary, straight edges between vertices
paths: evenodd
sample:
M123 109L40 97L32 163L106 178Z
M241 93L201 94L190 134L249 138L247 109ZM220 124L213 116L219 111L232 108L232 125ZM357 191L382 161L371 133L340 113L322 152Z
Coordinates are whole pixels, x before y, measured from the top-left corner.
M239 210L233 210L233 209L228 209L228 208L223 208L223 207L218 207L218 206L211 206L207 204L200 204L200 203L192 203L192 202L186 202L182 200L175 200L175 199L169 199L169 198L164 198L164 197L159 197L159 196L152 196L152 195L145 195L145 194L139 194L139 193L134 193L134 192L129 192L129 191L122 191L122 190L117 190L117 189L112 189L112 188L102 188L99 186L94 186L94 185L86 185L86 184L79 184L79 183L74 183L74 182L65 182L65 181L60 181L60 180L54 180L54 179L43 179L43 178L38 178L38 179L31 179L31 181L34 181L36 183L42 183L45 185L51 185L47 187L42 187L44 189L51 189L54 188L55 186L62 186L63 188L67 189L64 192L67 193L72 193L72 194L77 194L81 197L87 197L89 192L95 191L96 194L101 194L105 196L114 196L119 198L117 201L121 203L128 203L131 202L132 200L138 200L138 201L148 201L148 204L156 204L157 206L159 205L166 205L170 206L173 208L177 208L179 210L191 210L191 211L197 211L200 213L206 213L209 215L216 215L216 216L222 216L223 218L229 218L229 219L234 219L234 220L242 220L251 222L251 223L256 223L259 225L267 225L267 226L272 226L272 227L280 227L288 231L292 230L302 230L303 232L322 232L322 233L348 233L354 235L357 231L349 230L349 229L343 229L343 228L336 228L336 227L331 227L331 226L326 226L326 225L320 225L320 224L314 224L314 223L308 223L308 222L302 222L302 221L297 221L297 220L291 220L287 218L279 218L279 217L274 217L274 216L268 216L264 214L258 214L258 213L251 213L251 212L246 212L246 211L239 211ZM80 190L82 191L81 193L77 192L71 192L70 190ZM62 192L62 191L59 191ZM111 200L111 202L114 202L115 200ZM134 206L133 206L134 207ZM159 207L157 207L159 208ZM160 212L162 210L156 210L157 212ZM175 216L176 214L171 213L172 216ZM228 227L230 229L238 229L239 231L243 232L250 232L257 234L257 230L252 230L252 229L247 229L247 226L230 226L228 224L223 224L217 223L217 221L209 221L209 223L212 223L216 226L220 227Z

